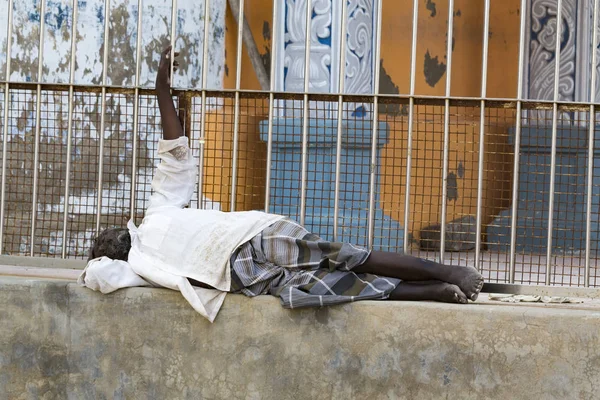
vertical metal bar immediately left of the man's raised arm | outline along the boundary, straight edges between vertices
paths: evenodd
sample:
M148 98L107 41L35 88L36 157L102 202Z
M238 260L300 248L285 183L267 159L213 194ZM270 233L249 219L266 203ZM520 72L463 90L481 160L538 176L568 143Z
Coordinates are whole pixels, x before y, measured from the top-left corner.
M129 192L129 218L135 221L136 184L137 184L137 159L138 135L140 116L140 65L142 60L142 15L143 0L138 0L137 37L135 45L135 90L133 92L133 148L131 154L131 190Z

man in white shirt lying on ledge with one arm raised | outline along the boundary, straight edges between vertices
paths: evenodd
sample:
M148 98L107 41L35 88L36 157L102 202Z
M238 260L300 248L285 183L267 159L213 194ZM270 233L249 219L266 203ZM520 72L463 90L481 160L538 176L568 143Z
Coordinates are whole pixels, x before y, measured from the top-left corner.
M170 56L169 47L156 78L163 138L148 209L139 227L129 221L100 233L80 284L102 293L134 286L177 290L211 322L227 293L271 294L285 308L477 299L483 278L472 267L329 242L281 215L185 208L198 165L171 98Z

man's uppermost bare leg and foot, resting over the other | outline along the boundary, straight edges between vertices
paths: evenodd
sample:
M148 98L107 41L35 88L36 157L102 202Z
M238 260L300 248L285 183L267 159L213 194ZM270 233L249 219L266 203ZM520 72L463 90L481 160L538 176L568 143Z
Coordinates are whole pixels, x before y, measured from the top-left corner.
M447 266L400 253L373 251L356 273L390 276L403 281L442 281L456 285L470 300L476 300L483 277L473 267Z

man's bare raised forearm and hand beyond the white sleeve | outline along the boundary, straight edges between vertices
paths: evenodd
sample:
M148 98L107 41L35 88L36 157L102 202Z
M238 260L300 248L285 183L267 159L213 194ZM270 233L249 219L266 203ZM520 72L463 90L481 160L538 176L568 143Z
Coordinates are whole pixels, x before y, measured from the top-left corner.
M178 56L179 53L174 53ZM173 69L177 70L179 63L173 62ZM163 128L163 139L173 140L183 136L183 128L177 116L171 97L171 46L167 47L160 56L158 73L156 74L156 97Z

